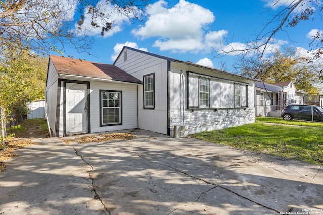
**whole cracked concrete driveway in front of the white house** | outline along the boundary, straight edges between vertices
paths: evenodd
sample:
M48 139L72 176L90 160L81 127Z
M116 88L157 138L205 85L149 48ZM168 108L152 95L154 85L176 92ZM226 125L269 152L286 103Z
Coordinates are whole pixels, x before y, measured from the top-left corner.
M321 166L121 132L136 138L17 150L0 173L0 214L323 214Z

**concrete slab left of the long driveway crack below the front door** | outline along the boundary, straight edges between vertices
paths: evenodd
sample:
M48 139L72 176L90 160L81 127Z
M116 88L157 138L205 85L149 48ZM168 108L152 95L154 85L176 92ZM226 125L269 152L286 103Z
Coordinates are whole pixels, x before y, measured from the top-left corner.
M89 166L58 138L15 151L0 173L0 214L105 214Z

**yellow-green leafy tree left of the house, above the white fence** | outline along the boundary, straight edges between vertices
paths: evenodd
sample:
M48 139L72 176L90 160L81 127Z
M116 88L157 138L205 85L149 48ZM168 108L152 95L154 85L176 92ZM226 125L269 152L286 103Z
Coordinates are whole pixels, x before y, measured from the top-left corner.
M8 53L8 54L7 54ZM14 112L16 121L28 112L27 103L45 98L48 59L28 51L5 52L0 63L0 103L8 115Z

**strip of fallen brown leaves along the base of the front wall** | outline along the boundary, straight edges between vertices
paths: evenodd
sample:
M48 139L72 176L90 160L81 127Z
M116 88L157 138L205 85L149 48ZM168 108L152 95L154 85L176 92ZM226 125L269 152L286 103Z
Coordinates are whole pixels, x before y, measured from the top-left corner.
M86 142L106 142L115 139L133 139L136 135L130 133L110 133L110 134L101 134L101 135L91 135L91 136L82 136L73 139L65 139L61 138L65 144L69 144L70 142L77 142L79 144L84 144Z

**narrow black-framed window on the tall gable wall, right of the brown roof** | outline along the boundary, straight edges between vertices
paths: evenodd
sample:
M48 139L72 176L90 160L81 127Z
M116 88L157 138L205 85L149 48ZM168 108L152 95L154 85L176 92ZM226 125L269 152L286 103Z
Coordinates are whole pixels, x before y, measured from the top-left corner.
M144 82L144 108L155 108L155 74L149 74L143 77Z

